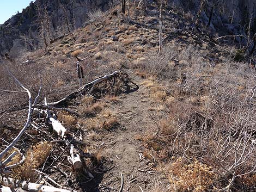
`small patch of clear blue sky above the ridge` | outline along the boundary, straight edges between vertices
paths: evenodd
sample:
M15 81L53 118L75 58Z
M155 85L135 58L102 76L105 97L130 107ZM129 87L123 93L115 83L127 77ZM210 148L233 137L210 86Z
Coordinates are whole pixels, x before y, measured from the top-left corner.
M17 11L21 13L32 0L0 0L0 24L3 24Z

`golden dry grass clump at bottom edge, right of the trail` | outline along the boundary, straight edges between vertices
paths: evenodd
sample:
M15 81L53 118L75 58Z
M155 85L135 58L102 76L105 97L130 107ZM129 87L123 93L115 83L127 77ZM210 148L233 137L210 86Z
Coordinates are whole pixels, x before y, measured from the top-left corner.
M211 169L211 166L198 160L185 163L182 158L178 158L169 167L169 181L177 191L203 192L212 189L216 179L216 174Z

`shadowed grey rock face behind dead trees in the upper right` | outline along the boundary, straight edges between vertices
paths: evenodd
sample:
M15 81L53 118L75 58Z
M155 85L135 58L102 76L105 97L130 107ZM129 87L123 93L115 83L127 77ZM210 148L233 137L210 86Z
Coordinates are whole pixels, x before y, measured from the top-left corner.
M201 0L169 0L169 4L173 7L190 12L196 16ZM204 9L200 16L200 21L206 25L208 24L211 8L213 15L211 20L211 27L215 32L221 33L225 28L234 28L240 25L240 30L236 30L233 34L241 33L245 27L248 26L250 17L252 16L252 27L256 32L256 1L254 0L208 0L204 5ZM229 25L234 25L230 27ZM224 30L224 32L226 32ZM230 30L229 30L230 32ZM229 34L230 35L230 34Z

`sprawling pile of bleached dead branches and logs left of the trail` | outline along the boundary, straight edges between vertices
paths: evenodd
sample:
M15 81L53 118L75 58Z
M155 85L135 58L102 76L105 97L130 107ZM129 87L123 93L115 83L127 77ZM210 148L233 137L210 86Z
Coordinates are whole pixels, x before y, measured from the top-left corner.
M42 85L38 90L38 95L33 100L31 92L25 86L23 86L23 84L13 75L13 73L10 72L9 69L7 69L7 67L5 67L5 69L8 71L9 75L16 81L16 83L19 84L23 89L20 92L27 92L29 104L28 106L24 106L21 108L12 108L1 112L1 114L4 114L10 111L28 109L27 121L23 126L22 130L19 132L16 138L11 143L9 143L8 146L5 147L5 149L0 153L0 174L2 175L0 181L0 191L9 192L14 191L15 188L22 189L25 191L71 191L71 189L63 189L62 185L59 185L57 182L55 182L52 178L50 178L47 174L43 172L45 169L46 161L50 154L46 158L41 171L34 171L40 174L40 178L42 175L44 175L45 178L48 181L50 181L55 187L53 187L53 185L47 186L38 183L32 183L29 181L21 181L20 179L9 177L9 173L13 172L13 170L15 170L16 167L21 166L25 162L26 157L21 153L21 150L16 148L16 151L12 153L11 151L13 151L14 146L21 139L22 135L26 132L28 127L32 127L36 131L41 132L42 135L48 135L47 128L58 134L59 141L61 141L64 144L65 148L60 149L62 152L59 154L58 157L54 158L51 165L54 164L58 159L60 159L60 157L62 157L65 151L69 150L67 162L70 163L72 170L74 170L75 172L82 173L83 175L86 176L88 180L94 179L93 174L87 168L86 163L84 163L83 161L83 158L81 158L81 154L82 156L84 156L84 153L80 150L79 147L77 147L77 144L87 145L86 143L81 141L81 137L79 137L80 135L78 135L80 131L78 130L75 134L69 133L67 129L62 125L62 123L60 123L60 121L58 120L56 111L63 110L67 113L80 116L80 114L78 114L74 110L67 108L71 100L76 99L78 96L93 94L93 92L97 90L97 87L101 86L101 84L110 84L110 87L113 88L117 81L117 78L120 79L121 82L123 82L126 86L129 86L128 83L130 82L130 80L128 75L120 71L115 71L109 75L101 76L99 78L96 78L92 82L84 84L76 91L71 92L71 94L56 102L47 103L47 98L45 97L44 103L38 104ZM46 128L46 131L43 128ZM54 147L56 146L57 145L55 145ZM55 149L53 148L53 150ZM53 152L53 150L51 151L51 153ZM14 157L18 153L20 153L19 155L22 157L20 162L12 163ZM13 176L15 176L15 172L13 173ZM38 181L40 181L40 178ZM68 178L68 176L66 176L66 178ZM47 182L44 183L47 184Z

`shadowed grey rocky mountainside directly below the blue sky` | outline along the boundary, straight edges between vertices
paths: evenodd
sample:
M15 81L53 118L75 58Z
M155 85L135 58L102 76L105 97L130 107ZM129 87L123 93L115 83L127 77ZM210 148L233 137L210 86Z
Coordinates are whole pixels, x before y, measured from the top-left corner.
M24 38L39 45L39 17L38 10L43 16L45 8L50 20L50 30L53 38L58 38L64 31L66 16L71 30L82 27L88 20L88 11L107 10L109 0L36 0L29 7L23 9L22 13L16 14L0 26L0 55L21 48ZM64 11L65 9L65 11ZM44 18L45 19L45 18ZM23 36L23 38L22 38ZM19 44L17 44L19 42ZM24 44L24 43L23 43ZM28 49L33 49L31 46Z

